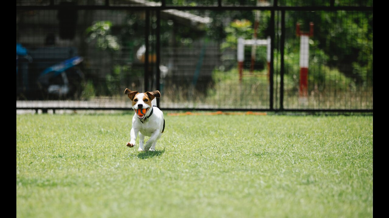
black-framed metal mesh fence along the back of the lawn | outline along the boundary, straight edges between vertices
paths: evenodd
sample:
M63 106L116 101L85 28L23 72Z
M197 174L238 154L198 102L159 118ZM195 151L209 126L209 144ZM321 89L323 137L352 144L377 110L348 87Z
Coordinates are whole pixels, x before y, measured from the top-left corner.
M17 109L120 109L125 88L168 109L373 109L372 1L16 4Z

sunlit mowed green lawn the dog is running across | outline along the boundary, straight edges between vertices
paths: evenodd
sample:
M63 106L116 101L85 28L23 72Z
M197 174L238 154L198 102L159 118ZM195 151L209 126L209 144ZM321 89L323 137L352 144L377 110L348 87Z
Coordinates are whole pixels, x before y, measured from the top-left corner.
M373 216L373 116L132 116L17 115L16 217Z

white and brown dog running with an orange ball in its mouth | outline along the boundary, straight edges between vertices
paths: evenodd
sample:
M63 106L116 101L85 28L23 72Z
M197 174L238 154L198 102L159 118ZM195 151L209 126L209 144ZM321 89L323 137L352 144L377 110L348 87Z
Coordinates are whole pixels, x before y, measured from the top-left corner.
M132 128L130 132L131 140L130 142L127 142L127 146L135 146L135 140L137 139L139 133L138 151L155 151L155 145L165 130L163 112L156 107L156 98L161 97L161 93L158 90L139 93L126 88L126 90L124 90L124 94L128 95L131 99L132 109L135 111L132 118ZM137 112L138 109L145 109L146 112L139 115ZM146 144L144 144L145 136L150 137Z

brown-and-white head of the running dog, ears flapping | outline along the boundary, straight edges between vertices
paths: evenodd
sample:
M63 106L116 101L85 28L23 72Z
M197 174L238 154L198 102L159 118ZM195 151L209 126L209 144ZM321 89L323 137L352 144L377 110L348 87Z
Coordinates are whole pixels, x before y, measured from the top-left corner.
M131 91L128 88L124 90L124 94L128 95L128 98L132 101L132 109L134 109L135 114L137 114L139 119L144 119L146 116L149 116L150 110L152 107L152 101L155 98L161 97L161 93L158 90L152 92L139 93L137 91ZM139 115L137 113L138 109L146 109L144 115Z

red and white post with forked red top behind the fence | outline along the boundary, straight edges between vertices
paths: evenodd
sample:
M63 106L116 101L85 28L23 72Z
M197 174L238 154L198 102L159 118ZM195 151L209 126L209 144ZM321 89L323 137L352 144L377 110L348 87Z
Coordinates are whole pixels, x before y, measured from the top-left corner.
M308 97L308 65L309 65L309 37L314 35L314 23L310 22L309 33L300 31L300 24L296 25L296 34L300 36L300 97Z

